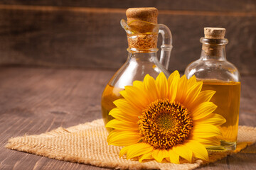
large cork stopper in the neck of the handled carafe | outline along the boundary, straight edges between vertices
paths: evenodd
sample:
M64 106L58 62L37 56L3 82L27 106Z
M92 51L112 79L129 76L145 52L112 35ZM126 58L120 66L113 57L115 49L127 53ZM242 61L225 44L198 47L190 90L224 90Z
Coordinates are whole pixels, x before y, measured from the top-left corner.
M157 16L156 8L128 8L127 24L136 35L127 34L129 48L152 49L157 47ZM143 22L145 21L145 22ZM158 29L158 28L157 28Z

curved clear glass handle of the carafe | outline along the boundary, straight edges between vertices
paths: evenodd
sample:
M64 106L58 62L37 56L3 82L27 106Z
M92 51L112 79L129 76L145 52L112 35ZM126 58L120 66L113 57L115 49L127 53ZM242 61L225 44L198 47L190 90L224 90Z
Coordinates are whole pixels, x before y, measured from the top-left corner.
M168 70L172 49L171 30L164 24L159 24L159 33L163 38L161 45L160 63Z

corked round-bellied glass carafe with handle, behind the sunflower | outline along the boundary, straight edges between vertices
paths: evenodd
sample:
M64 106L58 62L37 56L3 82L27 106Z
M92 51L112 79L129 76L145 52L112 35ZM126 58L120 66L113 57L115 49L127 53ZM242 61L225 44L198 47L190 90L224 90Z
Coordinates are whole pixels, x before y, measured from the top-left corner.
M132 15L132 16L131 16ZM142 81L146 74L156 78L160 72L169 77L168 66L172 48L171 31L163 24L157 24L156 8L129 8L127 22L121 26L127 33L128 58L108 82L102 94L102 118L104 123L112 120L108 113L115 108L113 101L122 98L119 91L133 81ZM162 35L160 62L157 58L157 38ZM110 132L111 129L107 128Z

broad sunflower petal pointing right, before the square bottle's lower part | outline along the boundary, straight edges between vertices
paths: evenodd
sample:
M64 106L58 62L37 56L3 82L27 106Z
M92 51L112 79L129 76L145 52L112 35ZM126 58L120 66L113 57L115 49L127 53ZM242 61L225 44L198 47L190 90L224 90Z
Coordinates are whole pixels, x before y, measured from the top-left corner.
M221 132L215 125L201 124L193 126L192 135L195 137L213 137L221 136Z

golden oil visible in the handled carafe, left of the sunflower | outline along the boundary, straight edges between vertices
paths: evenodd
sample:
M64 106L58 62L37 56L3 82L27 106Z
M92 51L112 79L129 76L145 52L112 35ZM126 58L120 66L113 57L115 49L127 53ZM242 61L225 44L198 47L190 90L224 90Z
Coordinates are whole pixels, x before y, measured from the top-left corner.
M104 120L105 125L113 119L111 115L109 115L112 108L115 108L113 101L123 98L121 94L119 94L119 91L122 91L124 89L117 88L114 86L111 86L110 84L107 84L105 90L102 94L102 118ZM107 128L107 131L111 131L110 128Z

